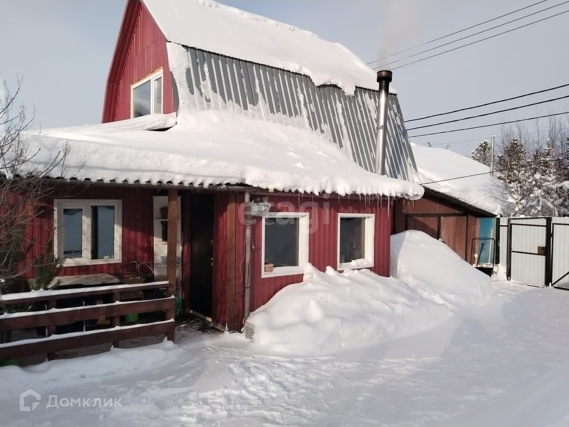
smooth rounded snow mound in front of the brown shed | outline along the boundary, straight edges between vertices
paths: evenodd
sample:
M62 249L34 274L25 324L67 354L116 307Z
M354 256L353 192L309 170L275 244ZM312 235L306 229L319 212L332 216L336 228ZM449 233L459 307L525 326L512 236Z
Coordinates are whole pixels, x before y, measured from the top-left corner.
M391 276L453 310L484 305L492 281L440 240L408 230L391 236Z

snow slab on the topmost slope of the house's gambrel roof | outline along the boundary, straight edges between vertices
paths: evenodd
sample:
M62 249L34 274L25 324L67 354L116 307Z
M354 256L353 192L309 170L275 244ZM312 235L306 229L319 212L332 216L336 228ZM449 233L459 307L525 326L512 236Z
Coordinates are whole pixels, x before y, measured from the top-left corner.
M376 73L340 43L212 0L143 0L169 42L306 75L316 86L377 89Z

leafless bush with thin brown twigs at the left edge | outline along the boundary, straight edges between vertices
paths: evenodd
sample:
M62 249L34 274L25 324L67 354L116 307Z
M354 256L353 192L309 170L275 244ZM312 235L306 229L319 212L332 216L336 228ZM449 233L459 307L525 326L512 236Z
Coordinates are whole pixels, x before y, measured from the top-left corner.
M48 185L50 176L64 176L65 146L55 156L36 161L39 151L31 150L24 131L31 125L26 106L16 107L21 80L14 96L10 96L6 83L0 79L0 294L26 290L21 277L32 268L40 268L42 260L53 260L51 244L40 248L42 255L30 258L34 236L28 228L40 220L46 210L43 199L53 188ZM15 112L14 114L11 114Z

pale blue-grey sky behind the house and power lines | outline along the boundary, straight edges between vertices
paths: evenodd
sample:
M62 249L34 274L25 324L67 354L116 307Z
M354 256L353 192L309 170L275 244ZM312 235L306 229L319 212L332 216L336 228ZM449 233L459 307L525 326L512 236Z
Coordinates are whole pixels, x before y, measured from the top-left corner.
M360 58L369 61L386 52L413 46L535 1L222 2L343 43ZM516 17L560 2L549 0ZM124 1L110 0L0 0L0 77L8 81L10 89L15 87L17 73L24 77L20 101L28 109L35 106L34 127L100 122L105 80L124 5ZM559 6L501 30L566 9L567 5ZM494 30L497 31L500 30ZM569 83L567 40L569 13L397 69L393 85L399 92L403 114L406 118L415 118ZM517 102L529 103L567 93L569 90ZM569 102L557 101L461 124L476 126L547 114L552 110L569 110ZM452 125L439 128L451 129ZM498 135L500 129L416 138L415 142L446 144L488 138L492 132ZM451 149L465 154L476 145L476 141L455 143Z

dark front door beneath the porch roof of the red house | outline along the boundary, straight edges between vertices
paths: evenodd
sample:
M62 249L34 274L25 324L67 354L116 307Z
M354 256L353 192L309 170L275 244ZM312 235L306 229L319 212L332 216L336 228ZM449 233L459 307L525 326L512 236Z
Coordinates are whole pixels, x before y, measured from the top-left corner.
M192 195L190 221L189 307L211 316L213 196Z

